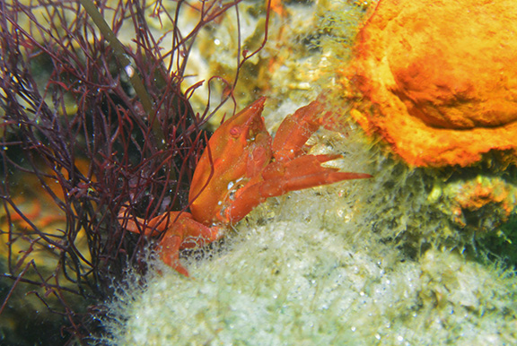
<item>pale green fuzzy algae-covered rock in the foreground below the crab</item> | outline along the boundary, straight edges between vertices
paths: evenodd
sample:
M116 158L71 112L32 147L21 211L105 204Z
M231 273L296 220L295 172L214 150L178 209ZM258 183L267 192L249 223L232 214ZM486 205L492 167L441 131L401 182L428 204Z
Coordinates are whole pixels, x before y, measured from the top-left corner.
M121 300L111 344L517 342L515 278L457 253L403 261L304 222L238 238L193 279L165 271Z

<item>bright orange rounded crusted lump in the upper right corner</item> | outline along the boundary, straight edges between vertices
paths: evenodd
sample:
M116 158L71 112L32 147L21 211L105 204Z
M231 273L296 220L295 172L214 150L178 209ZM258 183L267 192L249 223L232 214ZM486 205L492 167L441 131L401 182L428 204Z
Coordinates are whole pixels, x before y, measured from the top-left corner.
M410 165L515 162L516 33L509 0L381 0L343 71L351 114Z

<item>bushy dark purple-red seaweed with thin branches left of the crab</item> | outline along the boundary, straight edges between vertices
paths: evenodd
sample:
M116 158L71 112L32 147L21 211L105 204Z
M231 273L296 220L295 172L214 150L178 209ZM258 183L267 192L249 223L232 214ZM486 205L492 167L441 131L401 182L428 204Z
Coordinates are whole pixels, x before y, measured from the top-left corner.
M146 240L121 229L118 211L130 203L150 219L188 208L208 136L203 125L220 105L194 111L189 99L201 82L182 91L185 66L198 32L231 8L238 13L239 2L178 1L166 13L161 1L97 1L115 37L123 24L133 27L131 48L120 46L130 65L78 1L0 3L0 319L20 320L22 308L29 318L5 342L83 343L102 332L97 321L112 282L128 266L145 272ZM188 6L199 21L183 32L177 23ZM171 48L151 33L149 12L172 24L164 33L174 38ZM227 86L222 103L233 98L239 69L263 48L265 32L257 51L239 46L234 80L212 77ZM31 319L25 296L55 313L53 323L40 311Z

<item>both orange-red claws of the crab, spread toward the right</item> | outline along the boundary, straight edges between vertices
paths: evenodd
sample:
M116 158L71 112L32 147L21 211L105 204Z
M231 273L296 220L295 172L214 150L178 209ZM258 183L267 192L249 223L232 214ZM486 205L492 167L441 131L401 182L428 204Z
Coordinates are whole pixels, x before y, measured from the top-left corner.
M325 114L321 116L321 113ZM315 100L285 118L271 144L275 160L236 191L232 203L224 210L229 221L240 221L268 197L342 180L372 177L365 173L340 172L321 166L329 160L341 158L341 155L304 154L303 146L329 113L320 101Z

